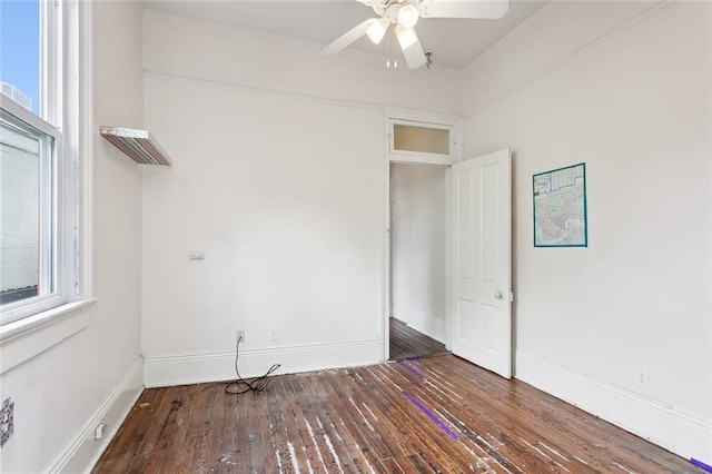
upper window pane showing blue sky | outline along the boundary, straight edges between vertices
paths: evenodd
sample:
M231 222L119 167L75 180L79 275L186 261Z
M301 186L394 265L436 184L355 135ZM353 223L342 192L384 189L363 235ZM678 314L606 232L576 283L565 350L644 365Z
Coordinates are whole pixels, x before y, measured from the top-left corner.
M40 110L40 2L0 1L0 91Z

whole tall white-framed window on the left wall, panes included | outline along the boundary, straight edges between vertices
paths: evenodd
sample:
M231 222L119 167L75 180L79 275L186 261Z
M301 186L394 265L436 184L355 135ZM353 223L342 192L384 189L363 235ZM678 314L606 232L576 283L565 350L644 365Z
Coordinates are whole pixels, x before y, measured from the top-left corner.
M61 3L0 2L1 324L77 299L78 124L67 120L77 55L66 24Z

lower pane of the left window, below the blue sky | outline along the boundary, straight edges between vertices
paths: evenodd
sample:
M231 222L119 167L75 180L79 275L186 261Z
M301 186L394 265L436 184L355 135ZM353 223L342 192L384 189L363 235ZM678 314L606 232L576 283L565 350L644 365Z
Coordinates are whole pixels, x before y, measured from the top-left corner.
M0 121L1 304L49 294L53 286L52 138L22 126Z

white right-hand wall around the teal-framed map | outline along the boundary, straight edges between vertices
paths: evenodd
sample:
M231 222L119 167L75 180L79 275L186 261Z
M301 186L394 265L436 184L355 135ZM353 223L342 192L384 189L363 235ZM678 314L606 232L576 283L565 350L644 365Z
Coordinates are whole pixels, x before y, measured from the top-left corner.
M514 150L517 378L708 463L710 18L548 3L463 73L465 157ZM582 161L589 247L534 248L532 175Z

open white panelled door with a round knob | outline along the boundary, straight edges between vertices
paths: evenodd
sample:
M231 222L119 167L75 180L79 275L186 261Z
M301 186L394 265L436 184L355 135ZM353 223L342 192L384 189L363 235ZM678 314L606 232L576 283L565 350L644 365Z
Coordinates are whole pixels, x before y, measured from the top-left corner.
M452 169L451 348L512 376L510 150Z

